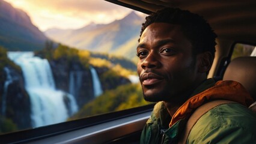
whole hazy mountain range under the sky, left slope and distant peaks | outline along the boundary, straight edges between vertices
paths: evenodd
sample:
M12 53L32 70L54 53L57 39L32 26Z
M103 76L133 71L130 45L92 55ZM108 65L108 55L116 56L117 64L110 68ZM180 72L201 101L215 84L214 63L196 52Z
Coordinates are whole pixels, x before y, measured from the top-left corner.
M108 24L90 23L79 29L52 28L41 32L23 10L0 0L0 46L8 50L43 49L47 40L77 49L108 52L135 58L139 32L144 18L134 11Z

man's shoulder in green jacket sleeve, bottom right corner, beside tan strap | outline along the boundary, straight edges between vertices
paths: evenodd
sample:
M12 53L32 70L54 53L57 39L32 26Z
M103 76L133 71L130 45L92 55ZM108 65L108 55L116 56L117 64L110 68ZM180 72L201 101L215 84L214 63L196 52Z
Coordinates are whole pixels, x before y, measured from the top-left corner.
M255 140L255 121L256 113L242 104L222 104L198 119L188 139L190 142L197 143L207 142L207 140L220 140L221 142L227 137L230 138L228 140L234 140L243 136L247 137L243 140Z

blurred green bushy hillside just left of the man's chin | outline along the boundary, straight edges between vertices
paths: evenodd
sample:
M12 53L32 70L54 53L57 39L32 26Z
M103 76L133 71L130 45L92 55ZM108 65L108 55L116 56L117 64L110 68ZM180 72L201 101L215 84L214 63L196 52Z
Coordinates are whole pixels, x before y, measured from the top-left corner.
M122 85L116 89L106 91L95 100L85 104L71 119L130 109L132 107L144 106L145 104L150 103L144 100L139 84Z

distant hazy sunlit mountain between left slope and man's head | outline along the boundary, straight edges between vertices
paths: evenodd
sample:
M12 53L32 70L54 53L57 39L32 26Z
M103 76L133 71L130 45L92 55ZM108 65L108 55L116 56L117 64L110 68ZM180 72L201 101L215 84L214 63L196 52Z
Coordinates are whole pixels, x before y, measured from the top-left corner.
M108 24L90 23L80 29L48 29L47 37L78 49L109 52L133 58L144 18L135 12Z

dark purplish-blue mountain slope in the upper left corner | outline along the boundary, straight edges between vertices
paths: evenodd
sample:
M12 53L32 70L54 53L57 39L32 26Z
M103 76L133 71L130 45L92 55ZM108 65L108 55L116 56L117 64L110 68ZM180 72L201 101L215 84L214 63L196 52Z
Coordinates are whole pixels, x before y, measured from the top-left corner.
M0 0L0 46L8 50L42 49L47 37L24 11Z

